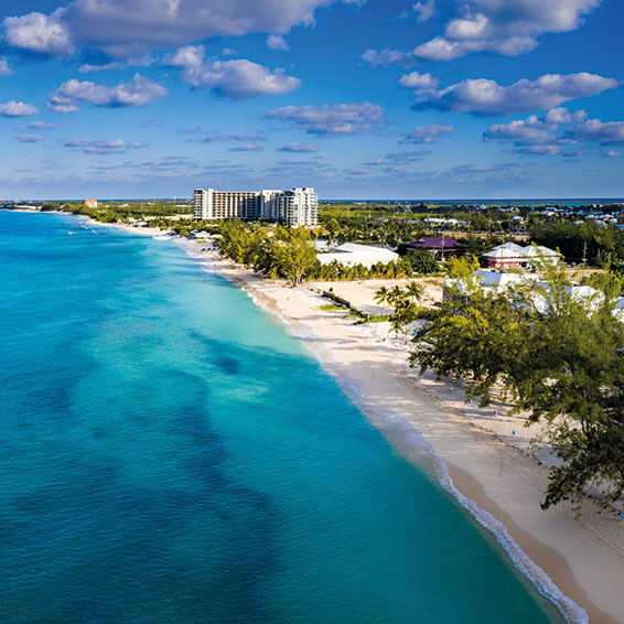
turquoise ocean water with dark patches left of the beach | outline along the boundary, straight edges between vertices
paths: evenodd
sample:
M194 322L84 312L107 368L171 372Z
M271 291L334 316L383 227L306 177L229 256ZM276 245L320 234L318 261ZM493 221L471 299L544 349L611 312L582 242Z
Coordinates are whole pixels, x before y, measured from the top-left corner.
M82 223L0 212L0 621L560 621L244 292Z

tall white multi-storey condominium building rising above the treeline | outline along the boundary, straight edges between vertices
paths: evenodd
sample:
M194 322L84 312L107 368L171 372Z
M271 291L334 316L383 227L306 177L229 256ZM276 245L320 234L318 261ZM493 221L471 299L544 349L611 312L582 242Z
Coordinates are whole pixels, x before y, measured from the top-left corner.
M319 217L319 198L310 186L243 193L195 189L193 205L201 219L268 219L300 226L316 225Z

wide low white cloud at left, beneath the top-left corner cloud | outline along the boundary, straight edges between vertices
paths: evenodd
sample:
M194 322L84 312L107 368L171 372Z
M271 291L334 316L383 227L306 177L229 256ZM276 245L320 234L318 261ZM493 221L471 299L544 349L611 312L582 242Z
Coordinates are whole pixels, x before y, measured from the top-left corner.
M135 74L131 80L115 87L96 85L89 80L80 83L72 78L50 94L47 107L56 112L75 112L80 101L109 108L135 107L151 104L166 94L168 90L162 85L140 74Z

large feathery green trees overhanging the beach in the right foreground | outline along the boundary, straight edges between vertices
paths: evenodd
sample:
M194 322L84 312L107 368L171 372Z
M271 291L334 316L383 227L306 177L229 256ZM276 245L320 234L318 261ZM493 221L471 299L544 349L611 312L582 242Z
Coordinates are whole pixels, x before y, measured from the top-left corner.
M466 399L481 405L502 385L514 411L545 426L544 442L563 461L550 469L545 508L578 502L589 484L615 501L624 492L624 324L613 315L622 283L595 277L602 294L583 302L564 270L549 268L545 286L491 294L472 269L455 267L463 289L448 290L410 364L464 379Z

